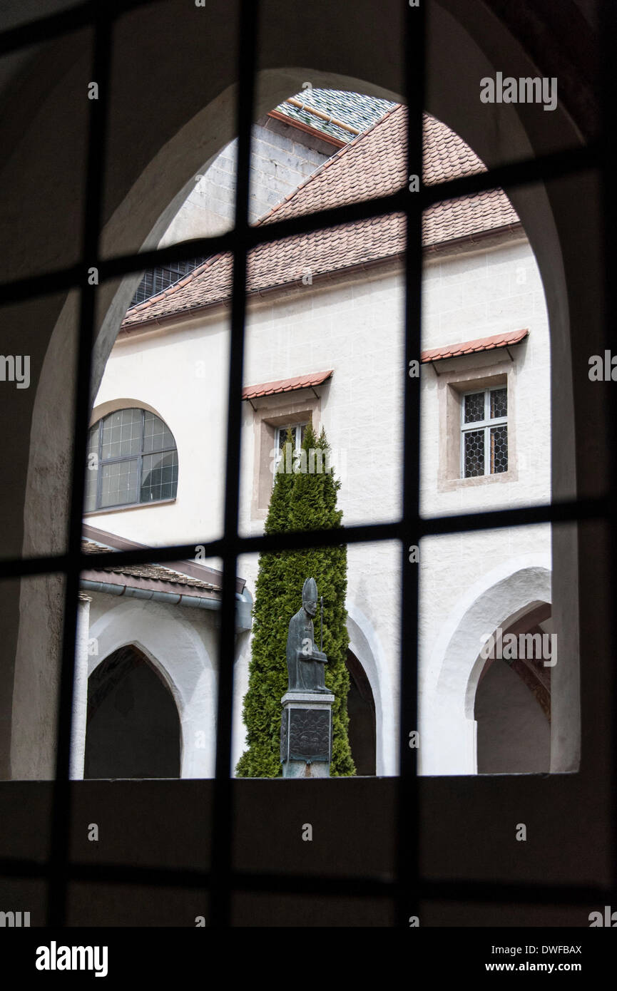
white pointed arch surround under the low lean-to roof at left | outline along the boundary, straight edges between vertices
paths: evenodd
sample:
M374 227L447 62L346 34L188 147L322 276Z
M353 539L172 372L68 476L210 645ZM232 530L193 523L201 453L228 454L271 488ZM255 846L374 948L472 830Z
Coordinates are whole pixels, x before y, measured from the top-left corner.
M89 636L96 641L98 653L88 658L88 678L114 650L134 644L156 669L178 709L181 777L210 778L214 773L216 669L181 611L135 599L113 603L90 626ZM206 732L203 748L195 745L197 729Z

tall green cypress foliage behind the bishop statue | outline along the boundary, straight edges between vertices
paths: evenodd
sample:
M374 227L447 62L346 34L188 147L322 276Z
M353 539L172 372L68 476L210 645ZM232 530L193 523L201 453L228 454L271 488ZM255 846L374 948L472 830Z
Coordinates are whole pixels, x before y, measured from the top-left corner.
M287 443L291 442L289 433ZM323 429L317 439L309 423L302 452L295 459L295 471L291 474L277 473L266 519L266 533L319 530L341 525L342 511L336 508L340 482L332 472L326 473L324 470L328 452ZM355 774L347 736L347 548L341 545L260 555L253 607L249 687L243 712L248 748L238 761L237 777L274 778L282 773L281 698L288 687L287 633L290 619L302 605L305 579L310 577L317 583L318 595L323 596L323 650L328 659L325 686L335 696L330 774L332 777ZM313 622L318 647L319 610Z

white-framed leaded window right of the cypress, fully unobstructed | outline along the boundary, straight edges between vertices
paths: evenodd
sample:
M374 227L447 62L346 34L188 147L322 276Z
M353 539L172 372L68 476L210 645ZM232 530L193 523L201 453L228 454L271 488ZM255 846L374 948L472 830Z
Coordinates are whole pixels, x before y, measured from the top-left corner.
M508 389L506 385L465 392L462 397L461 476L508 471Z

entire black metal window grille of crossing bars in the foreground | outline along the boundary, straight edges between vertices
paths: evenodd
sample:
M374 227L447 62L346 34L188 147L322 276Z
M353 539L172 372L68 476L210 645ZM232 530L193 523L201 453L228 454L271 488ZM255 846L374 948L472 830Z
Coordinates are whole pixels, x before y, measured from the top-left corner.
M310 215L251 228L248 224L249 169L251 122L255 89L256 49L259 26L259 3L242 0L241 30L238 39L238 170L235 202L235 225L232 231L200 241L159 251L102 259L99 234L102 216L102 187L107 143L106 94L112 59L112 27L114 19L128 9L149 0L126 0L124 4L109 0L93 0L77 7L43 17L0 35L0 54L8 54L61 37L66 32L90 26L94 32L94 52L91 78L97 80L100 97L90 102L87 147L86 198L83 216L81 261L68 269L38 275L0 285L0 301L13 302L50 291L59 292L77 287L80 293L79 346L74 406L74 452L71 469L69 535L66 554L58 557L5 560L0 565L0 577L63 574L65 576L62 669L59 698L58 760L54 784L54 811L51 828L51 849L47 862L0 860L0 873L8 876L45 878L48 882L48 921L62 926L65 920L66 891L69 881L96 880L100 883L120 879L123 882L153 887L207 888L210 896L210 924L228 925L231 892L264 891L318 893L320 896L352 895L396 899L398 925L407 927L409 916L418 914L420 897L424 899L464 902L469 898L488 903L512 901L567 904L588 898L601 899L604 891L596 888L551 886L537 884L487 884L484 882L429 882L419 872L418 824L419 792L416 773L417 750L409 748L405 732L400 733L400 776L397 806L397 862L393 880L375 878L324 878L289 875L246 875L232 869L231 826L232 791L231 716L232 668L235 632L236 560L241 553L283 550L289 548L327 546L340 541L340 531L295 532L284 535L242 537L238 534L238 494L240 451L236 438L240 436L242 371L245 332L245 298L247 251L254 245L273 242L283 236L323 229L337 223L366 219L385 213L404 213L407 218L406 281L406 353L405 369L418 359L421 345L422 299L422 213L432 203L501 186L516 186L552 179L583 169L601 167L603 176L603 208L605 232L612 232L617 212L617 192L613 180L612 159L602 142L575 150L564 150L529 161L501 165L486 172L445 181L420 192L406 188L368 202L358 202L343 208L318 211ZM408 106L408 165L410 174L422 173L423 109L425 105L425 4L406 10L405 96ZM617 30L617 14L610 0L603 6L604 25L601 37L610 40ZM604 133L617 97L617 83L612 72L610 43L606 42L603 56L602 114ZM605 326L610 327L617 315L615 292L610 271L610 252L605 241ZM227 411L226 476L224 531L220 540L205 545L208 556L222 558L223 589L219 642L219 685L216 724L216 771L212 828L211 870L208 874L186 870L143 869L114 864L96 866L71 862L68 851L70 823L69 753L73 691L73 654L77 618L79 574L88 566L82 555L80 540L84 496L84 464L87 450L87 420L91 351L95 326L96 288L88 284L88 269L95 265L99 281L117 278L144 269L165 266L179 259L195 257L195 251L209 257L221 251L233 255L233 289L231 317L231 348L229 360L229 398ZM614 399L612 400L615 401ZM617 419L613 415L613 422ZM229 438L231 441L229 442ZM504 526L531 523L564 522L583 519L606 519L611 523L611 559L617 560L617 518L609 499L584 498L549 505L534 505L440 517L420 514L420 389L419 380L406 376L404 401L403 517L394 523L367 524L346 529L347 543L396 539L402 553L401 643L405 663L401 664L401 727L417 725L418 673L418 568L408 567L408 547L420 543L423 537L445 533L473 532ZM610 452L611 491L617 491L617 452ZM194 545L157 549L157 560L174 561L190 557ZM100 555L100 567L124 563L147 563L148 551L113 552ZM613 569L614 572L614 569ZM615 576L611 578L615 591ZM617 742L617 725L613 720L613 743Z

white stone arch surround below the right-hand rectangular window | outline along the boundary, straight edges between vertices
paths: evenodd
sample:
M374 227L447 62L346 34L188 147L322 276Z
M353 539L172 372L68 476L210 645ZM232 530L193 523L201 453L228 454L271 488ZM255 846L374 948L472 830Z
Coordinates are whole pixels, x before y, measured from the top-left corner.
M552 602L551 560L526 555L487 572L450 611L428 663L423 774L477 774L473 707L485 663L480 649L498 626L507 627L543 602Z

